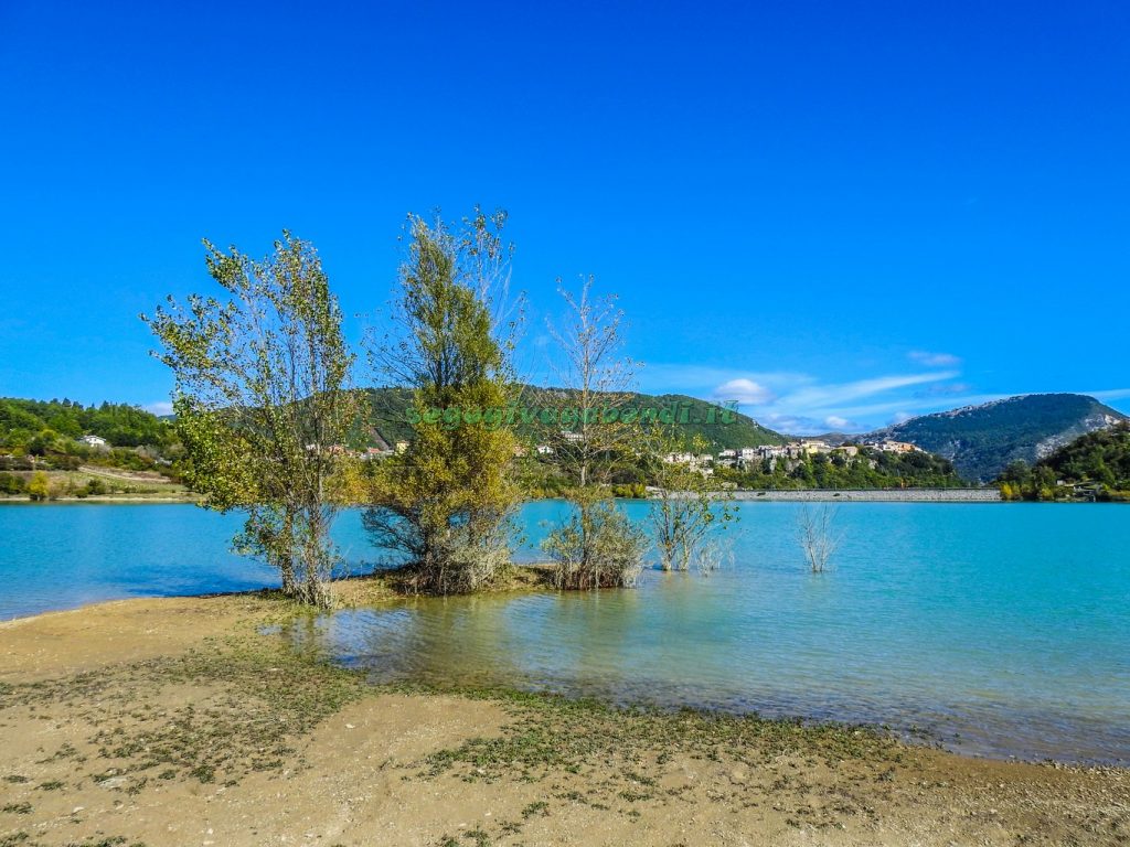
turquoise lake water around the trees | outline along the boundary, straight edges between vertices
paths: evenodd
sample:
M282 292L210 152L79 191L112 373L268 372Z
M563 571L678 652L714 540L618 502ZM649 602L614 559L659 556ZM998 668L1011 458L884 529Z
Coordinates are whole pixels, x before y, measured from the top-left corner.
M376 680L884 723L968 752L1130 765L1130 508L844 504L820 575L798 508L742 505L734 561L706 578L421 599L293 635ZM525 507L531 543L560 509ZM0 617L269 582L226 552L236 524L189 506L0 508ZM357 569L374 558L357 515L338 538Z

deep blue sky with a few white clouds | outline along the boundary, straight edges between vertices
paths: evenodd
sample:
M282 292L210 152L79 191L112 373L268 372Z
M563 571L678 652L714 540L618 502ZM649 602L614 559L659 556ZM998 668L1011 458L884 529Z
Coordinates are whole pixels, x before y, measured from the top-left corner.
M0 2L0 395L160 408L200 238L389 296L405 215L504 207L620 296L649 391L789 431L1002 395L1130 411L1122 2ZM359 322L350 320L350 332Z

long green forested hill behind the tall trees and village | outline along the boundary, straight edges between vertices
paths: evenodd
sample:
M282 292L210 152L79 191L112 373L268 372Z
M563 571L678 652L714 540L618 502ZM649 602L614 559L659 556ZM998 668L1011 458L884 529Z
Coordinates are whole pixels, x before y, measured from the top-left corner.
M366 411L358 420L350 442L354 446L392 446L398 440L411 438L411 425L408 421L408 409L411 405L411 392L403 388L370 388L365 391ZM556 388L539 388L524 386L519 405L528 414L537 416L542 409L556 409L562 405L562 392ZM686 424L680 430L688 437L701 436L711 449L731 447L755 447L762 444L786 444L789 438L760 426L753 418L738 412L732 413L729 424L722 422L718 407L704 400L696 400L685 394L633 394L628 405L637 409L679 409L685 414ZM715 422L709 422L709 411L715 410ZM525 439L537 440L544 427L540 421L523 422L521 414L515 414L518 435Z

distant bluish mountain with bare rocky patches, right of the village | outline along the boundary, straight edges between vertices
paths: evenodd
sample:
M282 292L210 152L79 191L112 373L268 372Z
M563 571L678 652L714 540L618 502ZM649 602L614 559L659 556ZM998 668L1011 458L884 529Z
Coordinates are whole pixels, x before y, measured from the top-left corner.
M966 479L986 482L1015 461L1034 464L1081 435L1127 416L1083 394L1025 394L912 418L869 434L950 460Z

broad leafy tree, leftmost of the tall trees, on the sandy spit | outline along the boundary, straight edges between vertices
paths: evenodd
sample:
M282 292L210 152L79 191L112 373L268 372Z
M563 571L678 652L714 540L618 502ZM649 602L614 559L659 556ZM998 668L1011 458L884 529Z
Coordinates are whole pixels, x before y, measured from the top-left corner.
M334 474L355 412L341 311L318 253L289 233L262 261L205 248L231 299L169 297L142 315L175 378L185 482L208 508L246 513L235 549L278 568L289 596L325 606Z

